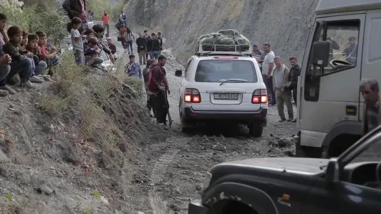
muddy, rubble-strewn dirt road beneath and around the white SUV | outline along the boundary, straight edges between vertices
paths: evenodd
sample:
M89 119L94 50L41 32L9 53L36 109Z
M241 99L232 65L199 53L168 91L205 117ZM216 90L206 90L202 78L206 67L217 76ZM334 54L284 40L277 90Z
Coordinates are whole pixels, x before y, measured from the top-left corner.
M131 210L140 214L187 213L187 204L200 197L204 175L213 165L245 158L292 156L294 145L287 140L296 134L296 125L279 123L277 107L269 107L268 126L260 138L249 137L246 127L234 124L206 125L196 128L192 135L182 133L178 112L182 79L174 74L183 67L170 50L163 54L168 57L165 68L171 90L171 135L166 142L141 148L148 162L136 169L131 181L134 193L126 201Z

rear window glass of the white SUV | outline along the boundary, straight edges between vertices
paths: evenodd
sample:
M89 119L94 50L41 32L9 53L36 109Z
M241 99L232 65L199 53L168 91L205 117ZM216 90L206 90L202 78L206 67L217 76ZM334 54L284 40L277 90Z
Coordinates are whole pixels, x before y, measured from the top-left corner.
M243 82L258 81L252 61L231 59L199 61L195 82L224 82L227 79L242 79Z

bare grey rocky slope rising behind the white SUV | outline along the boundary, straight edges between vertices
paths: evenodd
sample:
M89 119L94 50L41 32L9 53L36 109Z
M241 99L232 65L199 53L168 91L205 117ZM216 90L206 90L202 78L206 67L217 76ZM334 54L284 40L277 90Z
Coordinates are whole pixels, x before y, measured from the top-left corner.
M318 0L129 0L131 26L163 31L166 47L184 62L197 36L237 29L252 42L271 42L275 54L303 57Z

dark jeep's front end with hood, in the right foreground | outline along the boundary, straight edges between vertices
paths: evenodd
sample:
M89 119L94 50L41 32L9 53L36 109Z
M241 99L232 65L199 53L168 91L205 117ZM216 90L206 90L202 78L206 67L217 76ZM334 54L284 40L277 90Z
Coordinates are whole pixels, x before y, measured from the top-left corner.
M338 158L224 162L188 214L381 213L381 126Z

